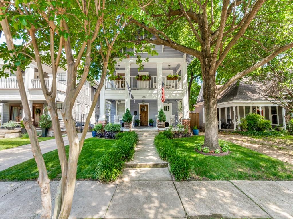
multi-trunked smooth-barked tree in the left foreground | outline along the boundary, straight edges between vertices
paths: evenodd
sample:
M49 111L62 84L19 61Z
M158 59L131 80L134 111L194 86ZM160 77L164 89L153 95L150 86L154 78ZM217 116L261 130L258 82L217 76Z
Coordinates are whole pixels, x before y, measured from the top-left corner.
M1 58L6 64L1 76L7 77L5 69L16 73L25 118L23 124L28 131L33 155L39 169L38 184L41 187L41 218L51 218L50 180L38 144L37 133L32 125L22 70L34 60L38 66L40 83L52 115L52 124L57 143L62 178L55 199L53 218L68 218L76 182L77 160L82 150L87 130L79 139L75 129L72 109L75 99L87 79L100 77L85 126L96 105L108 69L114 69L114 56L123 56L120 49L127 46L119 42L127 33L122 32L130 18L138 18L144 6L137 1L0 1L1 29L6 43L1 45ZM22 39L21 45L14 45ZM5 53L4 50L8 51ZM49 51L40 55L40 51ZM42 64L52 67L53 83L48 90L45 85ZM110 66L108 67L108 64ZM59 126L55 97L57 93L57 67L67 68L67 90L61 114L69 138L67 160ZM91 68L99 67L99 70ZM90 71L91 69L91 71ZM90 75L89 75L90 72ZM97 75L99 74L99 75ZM78 80L77 80L78 79Z

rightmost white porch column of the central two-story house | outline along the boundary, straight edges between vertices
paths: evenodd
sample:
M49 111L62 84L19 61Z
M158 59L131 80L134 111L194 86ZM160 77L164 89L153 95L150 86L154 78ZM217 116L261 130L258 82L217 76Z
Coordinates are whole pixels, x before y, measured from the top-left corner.
M183 88L183 118L189 118L189 103L188 103L188 78L187 78L187 62L181 62L181 76Z

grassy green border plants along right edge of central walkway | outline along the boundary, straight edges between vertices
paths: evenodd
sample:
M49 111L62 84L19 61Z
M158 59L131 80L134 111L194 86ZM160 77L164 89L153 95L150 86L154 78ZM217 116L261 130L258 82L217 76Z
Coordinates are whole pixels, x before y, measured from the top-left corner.
M168 131L160 132L156 135L154 144L161 159L168 161L170 171L177 181L188 180L192 170L192 161L188 157L176 150Z

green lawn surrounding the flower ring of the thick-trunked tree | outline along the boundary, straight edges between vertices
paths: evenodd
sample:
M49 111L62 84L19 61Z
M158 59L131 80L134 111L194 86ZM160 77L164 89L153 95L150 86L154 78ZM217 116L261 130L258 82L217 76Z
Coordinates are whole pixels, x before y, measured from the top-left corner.
M239 145L226 142L230 154L223 157L197 153L194 146L204 136L173 139L177 150L195 162L195 180L292 180L293 165L268 157ZM223 141L222 141L223 142Z

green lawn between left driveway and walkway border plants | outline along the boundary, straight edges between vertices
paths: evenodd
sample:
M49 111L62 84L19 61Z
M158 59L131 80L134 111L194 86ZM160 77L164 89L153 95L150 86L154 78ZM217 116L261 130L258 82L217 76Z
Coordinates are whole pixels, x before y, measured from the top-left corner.
M77 166L77 179L90 179L96 168L98 160L105 151L109 150L115 140L103 138L88 138L84 142ZM66 146L68 156L69 146ZM61 177L61 168L57 150L45 153L45 163L50 179ZM1 181L22 181L36 180L38 178L38 168L35 159L30 159L21 164L12 166L0 172Z

